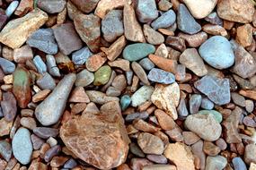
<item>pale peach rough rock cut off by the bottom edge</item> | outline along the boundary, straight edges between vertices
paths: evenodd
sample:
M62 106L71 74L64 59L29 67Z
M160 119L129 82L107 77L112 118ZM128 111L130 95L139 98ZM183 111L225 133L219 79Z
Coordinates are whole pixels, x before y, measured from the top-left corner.
M163 154L175 164L177 170L195 169L194 157L190 148L181 142L169 143Z

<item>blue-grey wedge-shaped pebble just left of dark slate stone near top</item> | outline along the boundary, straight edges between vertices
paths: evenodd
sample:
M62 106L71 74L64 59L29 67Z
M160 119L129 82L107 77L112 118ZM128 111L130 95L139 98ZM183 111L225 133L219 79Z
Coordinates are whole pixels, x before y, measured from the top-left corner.
M151 23L151 27L154 30L165 29L170 27L176 21L176 14L173 10L163 13L156 20Z

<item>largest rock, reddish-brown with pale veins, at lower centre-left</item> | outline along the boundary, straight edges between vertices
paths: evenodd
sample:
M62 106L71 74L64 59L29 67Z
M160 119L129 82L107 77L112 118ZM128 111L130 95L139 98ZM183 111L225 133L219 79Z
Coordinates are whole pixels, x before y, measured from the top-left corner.
M118 102L101 107L100 114L86 113L68 120L60 128L66 147L99 169L120 166L128 155L128 134Z

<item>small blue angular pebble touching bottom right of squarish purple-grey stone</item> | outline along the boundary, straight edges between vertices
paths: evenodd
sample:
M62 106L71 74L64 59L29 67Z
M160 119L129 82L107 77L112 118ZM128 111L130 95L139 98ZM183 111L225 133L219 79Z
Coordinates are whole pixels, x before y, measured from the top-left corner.
M76 65L85 64L88 58L92 55L93 53L90 51L88 47L83 47L72 53L72 62Z

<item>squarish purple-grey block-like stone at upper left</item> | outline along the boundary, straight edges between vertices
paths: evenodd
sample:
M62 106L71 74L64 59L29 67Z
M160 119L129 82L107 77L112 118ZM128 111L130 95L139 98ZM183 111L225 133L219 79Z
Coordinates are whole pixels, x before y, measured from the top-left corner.
M83 47L83 43L76 33L77 31L79 34L79 31L75 30L76 27L72 23L63 23L53 29L57 46L64 55L69 55Z

